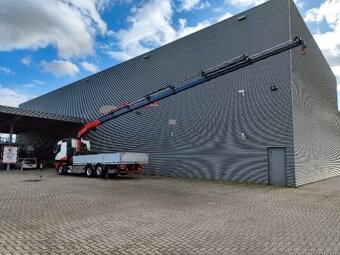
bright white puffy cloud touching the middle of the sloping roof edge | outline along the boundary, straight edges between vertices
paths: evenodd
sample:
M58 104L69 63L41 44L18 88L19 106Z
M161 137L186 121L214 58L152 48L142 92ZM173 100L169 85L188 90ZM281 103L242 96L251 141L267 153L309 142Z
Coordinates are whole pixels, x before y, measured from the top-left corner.
M130 27L115 33L119 49L107 53L112 58L125 61L218 21L205 20L195 26L187 26L185 19L179 19L179 28L175 29L173 14L171 0L151 0L134 8L128 18Z

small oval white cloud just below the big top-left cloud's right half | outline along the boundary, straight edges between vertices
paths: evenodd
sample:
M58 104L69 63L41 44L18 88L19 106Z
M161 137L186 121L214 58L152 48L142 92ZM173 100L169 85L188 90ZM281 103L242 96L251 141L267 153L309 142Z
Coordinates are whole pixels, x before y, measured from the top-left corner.
M79 68L64 60L53 60L52 62L41 61L41 66L45 72L52 73L56 77L60 76L74 76L79 73Z

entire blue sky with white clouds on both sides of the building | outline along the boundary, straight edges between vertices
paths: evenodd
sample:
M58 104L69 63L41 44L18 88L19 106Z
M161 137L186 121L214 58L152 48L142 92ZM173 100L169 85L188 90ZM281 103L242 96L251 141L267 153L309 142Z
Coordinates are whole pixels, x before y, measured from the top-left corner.
M0 0L0 104L20 103L266 0ZM295 0L338 80L340 0Z

